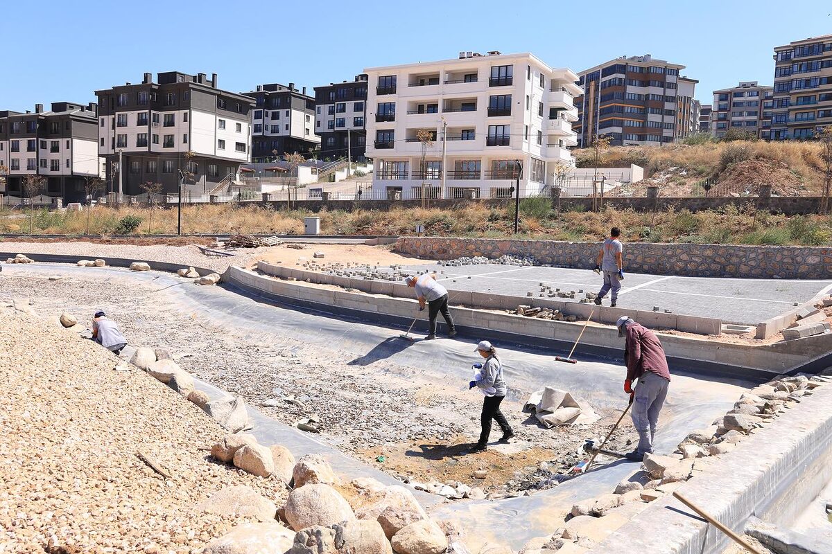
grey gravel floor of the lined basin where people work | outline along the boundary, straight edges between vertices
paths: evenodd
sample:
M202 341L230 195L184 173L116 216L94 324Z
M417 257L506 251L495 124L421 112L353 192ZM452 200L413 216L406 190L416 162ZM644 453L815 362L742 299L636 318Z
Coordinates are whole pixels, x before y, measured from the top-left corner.
M60 266L56 266L60 273ZM506 400L504 409L513 417L518 439L531 455L508 463L511 455L497 449L477 460L458 463L459 456L476 440L482 400L478 395L459 395L458 388L438 382L423 368L377 360L371 365L351 365L355 355L324 350L279 333L252 334L245 329L216 326L188 306L177 305L167 292L152 282L140 283L129 274L102 282L87 277L47 281L38 277L4 274L0 300L32 297L44 313L71 311L79 321L97 309L110 314L134 346L165 346L186 354L179 364L197 377L242 395L254 406L286 396L302 406L278 402L260 409L286 424L300 417L319 415L322 435L346 453L373 463L389 473L413 476L420 481L442 478L483 485L494 494L533 488L550 471L541 474L538 463L551 469L571 466L582 458L577 453L588 436L606 434L614 419L605 414L597 424L580 433L572 429L542 429L522 424L520 403ZM128 292L129 291L129 292ZM528 391L515 391L526 398ZM622 439L631 430L620 429ZM425 444L447 444L447 456L419 456ZM614 445L617 448L623 445ZM460 448L454 448L460 447ZM405 453L409 453L405 455ZM379 454L387 463L377 463ZM488 468L487 483L471 478L471 463ZM544 464L545 467L545 464Z

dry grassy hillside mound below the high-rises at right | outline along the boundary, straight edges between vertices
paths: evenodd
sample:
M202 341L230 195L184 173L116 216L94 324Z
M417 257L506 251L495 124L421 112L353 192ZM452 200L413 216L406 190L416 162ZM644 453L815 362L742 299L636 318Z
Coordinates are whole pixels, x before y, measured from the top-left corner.
M592 149L574 150L578 167L595 167ZM641 183L613 195L643 196L658 186L661 196L701 196L711 179L711 196L750 196L771 184L776 196L820 194L825 164L818 143L735 140L699 145L616 146L601 154L602 167L641 165Z

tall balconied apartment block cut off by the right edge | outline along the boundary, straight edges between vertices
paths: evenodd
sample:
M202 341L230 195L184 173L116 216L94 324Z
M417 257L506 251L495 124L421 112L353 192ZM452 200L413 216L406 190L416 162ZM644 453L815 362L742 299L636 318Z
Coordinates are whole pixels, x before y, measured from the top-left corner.
M809 139L832 125L832 35L775 47L770 140Z

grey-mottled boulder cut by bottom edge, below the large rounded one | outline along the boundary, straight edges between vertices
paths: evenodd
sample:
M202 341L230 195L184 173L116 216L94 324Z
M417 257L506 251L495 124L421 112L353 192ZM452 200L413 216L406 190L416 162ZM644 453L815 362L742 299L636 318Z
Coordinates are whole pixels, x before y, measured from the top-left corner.
M392 554L377 522L347 521L303 529L291 554Z

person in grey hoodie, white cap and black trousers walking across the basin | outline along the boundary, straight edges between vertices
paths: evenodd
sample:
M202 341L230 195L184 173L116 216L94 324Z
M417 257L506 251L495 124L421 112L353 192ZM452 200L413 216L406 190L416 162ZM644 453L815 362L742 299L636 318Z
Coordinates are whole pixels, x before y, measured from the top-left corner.
M488 435L491 434L491 420L497 422L503 430L503 437L499 442L508 443L514 436L511 425L508 424L506 416L500 411L500 403L506 397L506 382L503 380L503 365L497 357L497 350L488 341L480 341L477 345L477 352L485 362L474 364L478 370L479 378L468 383L468 390L478 387L485 395L483 399L483 414L480 417L482 431L479 434L479 441L471 449L471 453L485 452L488 449Z

